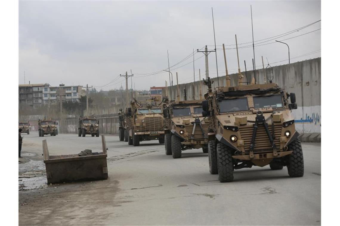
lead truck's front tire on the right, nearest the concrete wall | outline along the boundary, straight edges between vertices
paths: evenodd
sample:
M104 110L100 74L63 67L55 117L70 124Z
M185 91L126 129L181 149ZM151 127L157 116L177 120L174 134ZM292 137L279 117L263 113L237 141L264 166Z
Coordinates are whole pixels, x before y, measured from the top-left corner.
M293 151L289 155L289 164L287 165L288 174L290 177L303 177L304 164L301 141L295 139L288 145L288 150Z

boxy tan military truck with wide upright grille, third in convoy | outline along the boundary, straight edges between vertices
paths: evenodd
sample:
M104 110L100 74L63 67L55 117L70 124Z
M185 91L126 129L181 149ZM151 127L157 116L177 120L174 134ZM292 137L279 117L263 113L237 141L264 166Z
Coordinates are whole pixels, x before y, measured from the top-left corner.
M126 108L125 130L129 145L139 146L139 142L158 140L164 144L163 109L155 100L131 101Z

